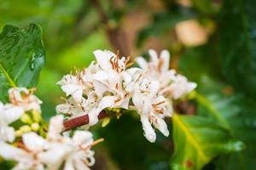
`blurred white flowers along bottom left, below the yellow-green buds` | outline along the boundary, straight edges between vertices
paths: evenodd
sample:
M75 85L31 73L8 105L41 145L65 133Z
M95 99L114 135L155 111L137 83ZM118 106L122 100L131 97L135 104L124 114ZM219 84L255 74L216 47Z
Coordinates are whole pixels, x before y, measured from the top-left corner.
M92 134L87 131L76 131L73 138L62 136L63 116L51 118L47 138L37 133L26 133L22 143L17 147L0 142L0 156L4 159L17 161L16 170L57 170L90 169L95 162Z

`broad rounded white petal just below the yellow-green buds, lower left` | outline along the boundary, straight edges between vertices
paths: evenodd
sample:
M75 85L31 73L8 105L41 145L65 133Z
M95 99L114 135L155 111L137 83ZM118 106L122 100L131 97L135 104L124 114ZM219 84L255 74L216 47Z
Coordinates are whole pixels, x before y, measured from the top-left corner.
M28 150L43 150L45 139L38 136L37 133L26 133L22 136L22 141Z

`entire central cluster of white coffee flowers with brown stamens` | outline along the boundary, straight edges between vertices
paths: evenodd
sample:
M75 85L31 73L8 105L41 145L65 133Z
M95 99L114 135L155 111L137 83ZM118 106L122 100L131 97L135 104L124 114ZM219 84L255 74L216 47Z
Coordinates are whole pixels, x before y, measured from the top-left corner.
M164 118L172 116L172 100L189 94L195 87L186 77L169 70L170 54L163 50L158 57L149 50L150 61L137 58L141 68L127 68L129 57L105 50L94 52L96 61L75 75L67 75L58 82L67 95L56 111L68 117L89 116L89 125L98 121L106 108L135 108L143 124L145 137L154 142L155 128L169 135Z

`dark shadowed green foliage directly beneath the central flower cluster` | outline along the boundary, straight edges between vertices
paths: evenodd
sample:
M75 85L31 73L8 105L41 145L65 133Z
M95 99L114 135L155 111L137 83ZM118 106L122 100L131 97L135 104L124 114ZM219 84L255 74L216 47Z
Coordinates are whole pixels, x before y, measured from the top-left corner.
M141 122L131 115L113 120L98 132L121 169L169 169L171 137L160 134L156 143L149 143L143 136Z

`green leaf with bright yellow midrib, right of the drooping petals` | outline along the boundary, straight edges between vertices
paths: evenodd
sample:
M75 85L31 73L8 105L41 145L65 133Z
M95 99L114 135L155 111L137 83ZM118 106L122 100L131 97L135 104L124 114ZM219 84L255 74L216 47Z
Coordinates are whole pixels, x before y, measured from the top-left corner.
M213 157L244 148L229 131L203 116L172 116L172 169L201 169Z

